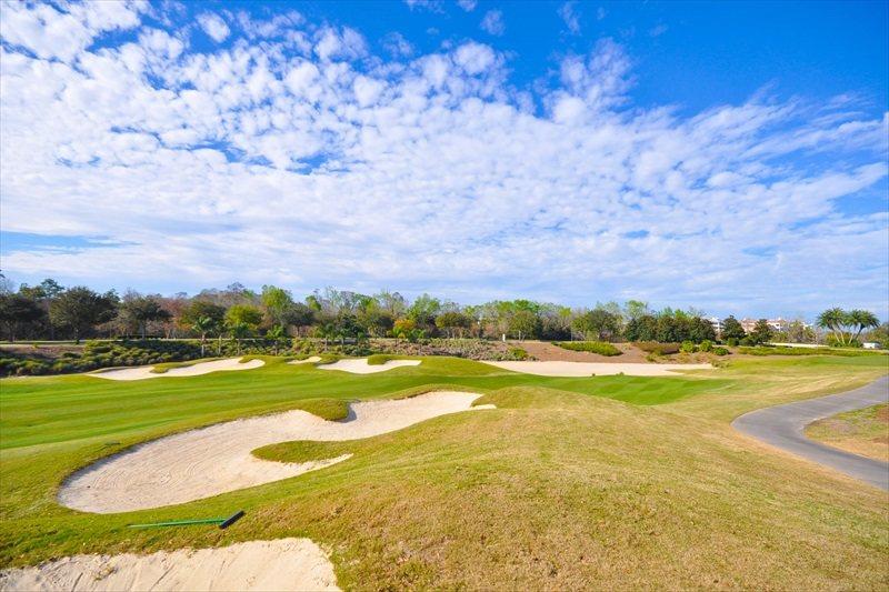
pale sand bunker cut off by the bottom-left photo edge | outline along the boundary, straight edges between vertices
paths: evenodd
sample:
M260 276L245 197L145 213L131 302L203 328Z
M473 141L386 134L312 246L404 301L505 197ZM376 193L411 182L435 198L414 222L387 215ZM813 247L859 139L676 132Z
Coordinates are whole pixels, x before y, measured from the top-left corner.
M0 572L0 590L339 590L309 539L250 541L150 555L76 555Z

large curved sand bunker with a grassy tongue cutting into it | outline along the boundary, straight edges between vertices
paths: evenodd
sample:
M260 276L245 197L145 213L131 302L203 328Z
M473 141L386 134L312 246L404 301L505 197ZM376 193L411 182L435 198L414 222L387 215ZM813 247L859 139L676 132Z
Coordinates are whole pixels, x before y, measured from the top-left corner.
M146 510L209 498L330 466L349 454L306 463L263 461L250 452L292 440L370 438L472 408L480 394L432 392L411 399L350 405L344 422L287 411L168 435L109 456L71 475L59 503L84 512Z

